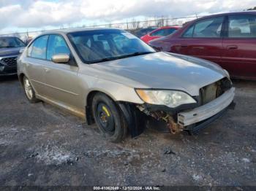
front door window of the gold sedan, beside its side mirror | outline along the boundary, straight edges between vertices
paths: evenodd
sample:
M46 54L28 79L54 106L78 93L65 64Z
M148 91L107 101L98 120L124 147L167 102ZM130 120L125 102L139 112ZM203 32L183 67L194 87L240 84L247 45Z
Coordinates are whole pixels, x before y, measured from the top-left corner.
M58 54L70 55L69 47L67 47L67 43L62 36L50 35L47 48L47 60L50 61L53 55Z

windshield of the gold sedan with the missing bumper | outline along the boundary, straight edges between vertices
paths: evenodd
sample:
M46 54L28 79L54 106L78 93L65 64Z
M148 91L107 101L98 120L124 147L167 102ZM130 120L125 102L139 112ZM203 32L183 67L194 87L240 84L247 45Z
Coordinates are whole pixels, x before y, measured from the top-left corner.
M118 29L79 31L68 36L84 63L110 61L155 52L136 36Z

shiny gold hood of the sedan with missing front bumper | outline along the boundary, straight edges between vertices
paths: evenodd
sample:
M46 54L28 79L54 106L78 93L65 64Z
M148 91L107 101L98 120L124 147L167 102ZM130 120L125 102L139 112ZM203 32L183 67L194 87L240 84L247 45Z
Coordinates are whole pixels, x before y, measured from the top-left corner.
M190 95L199 95L200 87L227 77L225 71L216 64L167 52L154 52L93 65L104 71L102 75L105 77L111 78L108 74L113 74L110 80L124 85L138 82L137 85L132 83L130 86L183 90Z

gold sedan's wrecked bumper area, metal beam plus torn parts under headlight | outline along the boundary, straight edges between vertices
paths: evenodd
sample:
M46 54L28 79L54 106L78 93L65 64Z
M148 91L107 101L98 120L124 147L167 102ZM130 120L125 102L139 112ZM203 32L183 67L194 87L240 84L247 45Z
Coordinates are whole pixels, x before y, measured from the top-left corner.
M137 106L140 112L143 112L157 120L164 120L167 123L167 128L171 133L178 133L182 130L197 132L200 129L217 120L228 108L233 104L235 96L235 88L231 87L218 98L193 109L182 110L176 114L163 111L150 111L144 106Z

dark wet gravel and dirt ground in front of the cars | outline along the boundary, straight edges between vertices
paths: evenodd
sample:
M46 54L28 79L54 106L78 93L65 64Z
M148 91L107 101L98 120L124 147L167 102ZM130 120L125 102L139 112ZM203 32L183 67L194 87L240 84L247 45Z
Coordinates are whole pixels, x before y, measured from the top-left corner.
M0 80L0 185L256 185L256 82L235 81L236 109L197 136L148 129L112 144Z

